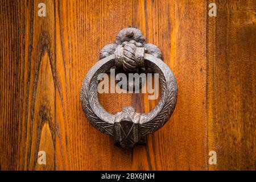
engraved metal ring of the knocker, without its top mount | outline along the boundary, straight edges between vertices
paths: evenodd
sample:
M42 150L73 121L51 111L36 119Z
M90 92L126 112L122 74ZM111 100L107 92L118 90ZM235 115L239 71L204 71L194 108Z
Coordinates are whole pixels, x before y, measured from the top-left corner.
M86 117L96 129L114 137L114 143L126 148L146 141L145 136L160 129L171 117L177 101L177 82L171 69L158 57L144 54L144 67L159 73L161 96L158 105L150 113L136 113L133 107L125 107L110 114L98 100L97 77L115 66L115 55L104 57L88 72L81 87L81 103Z

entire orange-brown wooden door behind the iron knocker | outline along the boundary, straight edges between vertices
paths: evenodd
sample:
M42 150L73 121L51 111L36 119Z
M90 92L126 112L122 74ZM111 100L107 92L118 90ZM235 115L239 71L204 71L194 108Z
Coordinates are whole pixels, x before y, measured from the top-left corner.
M217 16L206 0L0 1L0 169L255 170L256 2L213 2ZM132 151L94 129L80 102L101 48L128 26L162 50L179 88L170 121ZM110 113L157 102L144 94L100 101Z

